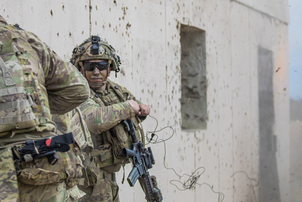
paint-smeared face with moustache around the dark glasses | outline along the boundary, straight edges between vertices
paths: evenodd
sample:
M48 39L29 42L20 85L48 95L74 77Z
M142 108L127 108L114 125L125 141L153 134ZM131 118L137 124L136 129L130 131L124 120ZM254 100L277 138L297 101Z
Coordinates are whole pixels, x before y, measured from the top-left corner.
M103 62L107 60L88 60L85 62ZM83 71L83 70L82 70ZM102 85L103 81L107 79L108 77L108 69L99 70L98 68L95 68L93 71L90 70L84 70L85 71L85 77L88 80L88 82L91 82L91 86L94 88L98 88Z

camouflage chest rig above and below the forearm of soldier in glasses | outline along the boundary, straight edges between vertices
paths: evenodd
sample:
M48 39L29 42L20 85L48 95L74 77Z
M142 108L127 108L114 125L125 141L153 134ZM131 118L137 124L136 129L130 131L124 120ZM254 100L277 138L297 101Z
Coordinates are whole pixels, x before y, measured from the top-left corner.
M129 92L122 90L117 84L110 80L108 80L106 85L107 90L96 90L95 92L91 90L92 99L101 107L110 106L134 98ZM143 134L139 126L140 120L137 117L133 117L132 121L136 130L137 139L140 141L140 133ZM128 157L123 156L122 149L131 149L132 147L131 137L120 123L101 134L92 135L92 141L94 145L92 154L95 156L95 161L100 167L123 162Z

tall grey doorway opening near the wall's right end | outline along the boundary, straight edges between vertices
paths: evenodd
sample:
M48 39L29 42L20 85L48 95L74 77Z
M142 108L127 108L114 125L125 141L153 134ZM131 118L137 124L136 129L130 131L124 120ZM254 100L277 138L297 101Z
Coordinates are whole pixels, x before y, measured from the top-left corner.
M277 169L277 136L274 134L273 53L258 48L259 93L259 201L280 202Z

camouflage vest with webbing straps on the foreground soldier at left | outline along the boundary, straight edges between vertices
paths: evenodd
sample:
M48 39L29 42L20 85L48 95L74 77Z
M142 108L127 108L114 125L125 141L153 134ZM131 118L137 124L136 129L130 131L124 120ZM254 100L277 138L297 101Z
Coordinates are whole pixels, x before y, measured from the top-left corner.
M14 32L13 27L0 28L3 32L0 39L1 137L8 132L32 131L45 122L45 117L42 114L41 87L32 69L38 68L36 66L40 63L36 64L35 56L24 51L22 46L32 48L25 38ZM34 52L31 54L35 55Z

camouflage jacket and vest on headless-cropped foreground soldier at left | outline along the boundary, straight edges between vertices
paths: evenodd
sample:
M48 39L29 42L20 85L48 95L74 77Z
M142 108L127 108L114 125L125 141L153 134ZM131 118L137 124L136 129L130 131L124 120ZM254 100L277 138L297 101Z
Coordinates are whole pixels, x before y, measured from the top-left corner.
M3 73L5 71L2 69L0 71L0 79L2 77L0 89L22 88L22 92L8 93L7 96L1 94L0 105L9 102L23 102L25 99L31 100L31 106L26 106L24 109L19 106L20 114L0 107L2 124L0 124L0 146L24 142L29 138L28 134L21 133L34 132L34 137L31 136L31 138L35 139L42 135L45 137L46 132L56 132L56 125L51 121L50 114L69 112L85 102L89 96L88 83L79 71L71 63L57 56L49 46L31 32L18 30L14 26L0 22L0 56L2 67L8 69L16 83L15 86L6 86L3 80L8 74L6 74L6 70L6 73ZM12 57L16 57L17 62L12 62ZM23 69L22 75L15 75L17 67L19 73L20 68L21 72ZM27 112L27 109L31 109L29 110L31 112ZM18 122L17 119L21 122L22 120L5 118L21 117L26 113L34 115L31 117L37 120L35 125L30 128L20 128L16 124L14 129L6 131L5 122L9 123L11 120ZM12 136L14 137L10 138Z

